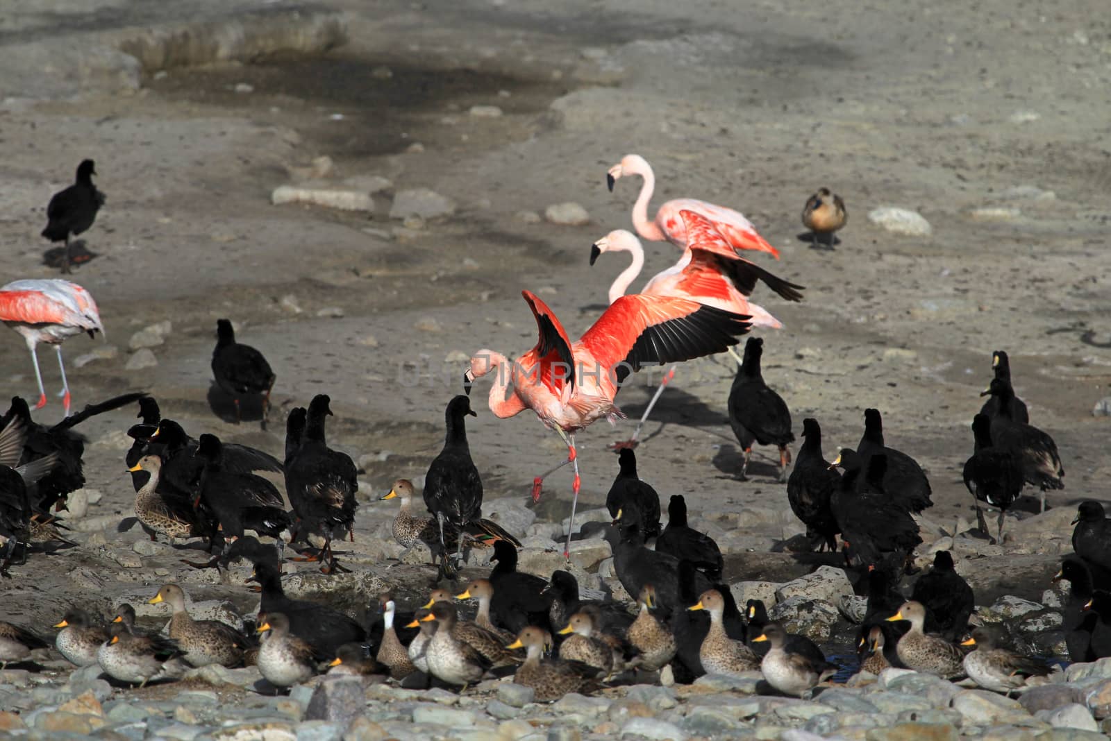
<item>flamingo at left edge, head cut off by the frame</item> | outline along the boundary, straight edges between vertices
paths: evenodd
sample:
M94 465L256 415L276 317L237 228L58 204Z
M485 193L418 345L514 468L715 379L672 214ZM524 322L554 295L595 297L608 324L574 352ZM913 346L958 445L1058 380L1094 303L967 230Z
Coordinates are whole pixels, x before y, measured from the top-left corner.
M62 343L68 337L88 332L94 337L103 332L97 302L88 291L58 278L12 281L0 287L0 322L23 335L27 348L31 351L34 378L39 382L39 403L36 409L47 405L47 392L42 387L39 358L36 345L44 342L58 351L58 367L62 374L62 405L69 416L70 392L66 382L66 365L62 363Z

